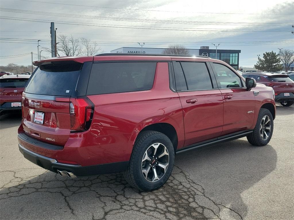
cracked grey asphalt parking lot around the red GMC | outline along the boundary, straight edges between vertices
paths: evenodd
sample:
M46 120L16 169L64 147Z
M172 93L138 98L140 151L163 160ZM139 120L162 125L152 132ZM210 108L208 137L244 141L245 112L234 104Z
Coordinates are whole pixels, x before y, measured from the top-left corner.
M277 104L263 147L246 138L176 155L168 182L131 188L121 173L70 179L18 150L20 114L0 118L0 219L294 219L294 107Z

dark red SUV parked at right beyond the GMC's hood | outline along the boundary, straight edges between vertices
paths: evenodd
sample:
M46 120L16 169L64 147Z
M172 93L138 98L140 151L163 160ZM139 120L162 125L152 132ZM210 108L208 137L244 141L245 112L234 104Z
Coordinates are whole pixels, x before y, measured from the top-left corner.
M291 106L294 102L294 81L285 74L269 72L252 72L242 75L244 78L255 79L257 83L272 87L275 91L275 101L282 106Z

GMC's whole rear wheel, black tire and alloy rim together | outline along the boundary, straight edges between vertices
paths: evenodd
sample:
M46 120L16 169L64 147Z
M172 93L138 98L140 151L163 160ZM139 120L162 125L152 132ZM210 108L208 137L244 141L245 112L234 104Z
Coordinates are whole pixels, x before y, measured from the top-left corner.
M127 182L142 191L161 187L171 175L174 163L171 140L157 131L143 131L133 148L124 176Z

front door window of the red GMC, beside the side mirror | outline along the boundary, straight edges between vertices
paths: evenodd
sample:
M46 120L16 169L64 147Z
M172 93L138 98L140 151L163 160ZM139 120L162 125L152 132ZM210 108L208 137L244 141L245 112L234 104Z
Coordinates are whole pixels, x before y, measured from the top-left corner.
M213 63L213 66L221 88L242 87L240 78L228 67L218 63Z

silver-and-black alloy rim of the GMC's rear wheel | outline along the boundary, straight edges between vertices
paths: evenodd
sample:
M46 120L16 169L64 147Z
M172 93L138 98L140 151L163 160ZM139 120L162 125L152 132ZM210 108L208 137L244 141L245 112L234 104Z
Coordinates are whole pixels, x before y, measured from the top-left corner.
M147 148L142 159L142 174L148 182L160 180L168 168L169 154L162 143Z

